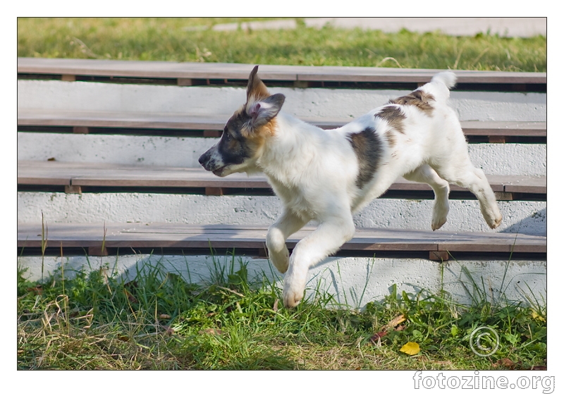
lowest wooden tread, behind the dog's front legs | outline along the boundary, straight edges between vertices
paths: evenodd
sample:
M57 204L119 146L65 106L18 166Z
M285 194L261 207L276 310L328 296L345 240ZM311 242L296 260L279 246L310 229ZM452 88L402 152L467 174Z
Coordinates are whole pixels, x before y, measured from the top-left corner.
M47 223L18 224L18 248L105 248L123 249L253 249L264 250L266 228L243 225L185 225L168 223ZM304 228L287 242L292 249L314 228ZM43 238L43 240L42 240ZM546 254L546 237L515 233L464 233L357 229L341 252L473 252ZM64 253L64 250L63 250ZM439 254L440 255L440 254ZM546 259L546 258L545 258Z

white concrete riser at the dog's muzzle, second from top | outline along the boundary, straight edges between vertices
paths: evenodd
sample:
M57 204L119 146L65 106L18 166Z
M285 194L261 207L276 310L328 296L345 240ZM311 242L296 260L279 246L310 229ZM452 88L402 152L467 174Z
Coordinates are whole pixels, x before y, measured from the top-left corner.
M18 159L199 168L218 140L203 137L18 133ZM490 175L546 175L546 144L470 144L470 159ZM212 174L210 174L212 175Z

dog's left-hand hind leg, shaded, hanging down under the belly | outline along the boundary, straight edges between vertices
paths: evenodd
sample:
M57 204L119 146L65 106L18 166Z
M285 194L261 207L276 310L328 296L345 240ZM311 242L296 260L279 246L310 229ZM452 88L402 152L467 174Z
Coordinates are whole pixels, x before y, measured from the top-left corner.
M419 166L415 171L403 175L403 178L414 182L427 183L435 192L435 203L433 206L433 218L431 219L432 230L438 230L446 223L448 215L448 182L441 178L429 165Z

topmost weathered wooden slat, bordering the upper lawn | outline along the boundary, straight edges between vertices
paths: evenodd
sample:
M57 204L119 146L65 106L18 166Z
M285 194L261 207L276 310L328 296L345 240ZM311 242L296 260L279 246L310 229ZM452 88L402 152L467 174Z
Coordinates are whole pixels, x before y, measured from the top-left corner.
M18 73L247 80L254 65L239 63L178 63L66 58L18 58ZM427 82L441 70L341 66L260 66L263 80L338 82ZM455 70L458 82L545 84L546 73Z

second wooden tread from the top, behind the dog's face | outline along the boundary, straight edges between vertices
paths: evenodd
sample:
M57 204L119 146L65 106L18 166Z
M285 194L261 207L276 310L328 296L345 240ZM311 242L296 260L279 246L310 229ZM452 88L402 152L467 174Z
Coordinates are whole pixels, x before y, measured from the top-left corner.
M188 116L170 113L133 113L97 111L57 111L18 109L18 126L67 127L74 132L96 132L96 128L199 130L200 135L218 137L230 116ZM350 120L304 118L324 129L339 128ZM467 136L491 137L496 142L503 137L534 137L546 141L546 122L462 121Z

